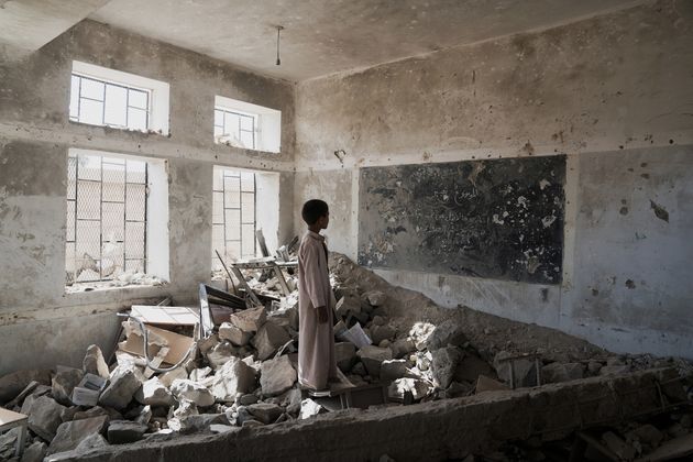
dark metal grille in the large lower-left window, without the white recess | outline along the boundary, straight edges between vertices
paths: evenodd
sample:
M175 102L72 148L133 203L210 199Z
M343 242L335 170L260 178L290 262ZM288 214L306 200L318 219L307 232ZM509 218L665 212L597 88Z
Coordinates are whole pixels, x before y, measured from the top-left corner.
M146 273L146 162L68 156L66 284Z

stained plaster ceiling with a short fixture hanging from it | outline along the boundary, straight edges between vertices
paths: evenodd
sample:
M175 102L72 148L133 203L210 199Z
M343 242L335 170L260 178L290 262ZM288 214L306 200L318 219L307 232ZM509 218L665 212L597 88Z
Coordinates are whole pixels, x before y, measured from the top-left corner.
M287 80L547 28L634 0L110 0L88 18ZM275 65L276 25L282 65Z

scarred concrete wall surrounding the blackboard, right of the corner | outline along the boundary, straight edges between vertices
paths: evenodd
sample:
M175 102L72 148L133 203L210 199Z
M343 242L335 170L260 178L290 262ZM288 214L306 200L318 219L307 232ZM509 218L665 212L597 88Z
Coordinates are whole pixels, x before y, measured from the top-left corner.
M330 248L355 257L360 167L565 153L561 285L378 274L446 306L691 358L692 44L693 4L664 0L302 82L295 202L327 198Z

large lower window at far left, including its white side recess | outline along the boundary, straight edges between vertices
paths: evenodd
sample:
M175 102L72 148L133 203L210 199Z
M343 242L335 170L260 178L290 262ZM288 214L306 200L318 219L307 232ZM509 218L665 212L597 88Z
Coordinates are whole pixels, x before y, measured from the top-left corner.
M164 161L69 150L67 172L66 285L167 278Z

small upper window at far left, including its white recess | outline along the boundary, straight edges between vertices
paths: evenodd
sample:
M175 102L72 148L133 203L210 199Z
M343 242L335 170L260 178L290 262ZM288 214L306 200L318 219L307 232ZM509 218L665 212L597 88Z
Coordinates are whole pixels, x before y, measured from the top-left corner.
M168 84L74 62L69 120L168 134Z

